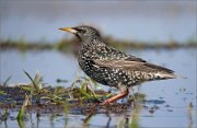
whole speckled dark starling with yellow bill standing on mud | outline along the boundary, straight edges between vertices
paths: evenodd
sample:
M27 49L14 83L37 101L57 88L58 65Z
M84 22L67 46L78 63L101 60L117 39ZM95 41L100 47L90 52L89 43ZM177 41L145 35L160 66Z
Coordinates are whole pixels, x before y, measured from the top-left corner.
M176 78L171 69L108 47L103 42L99 31L92 26L82 25L59 30L73 33L80 39L78 61L81 69L94 81L117 88L120 91L119 94L102 104L113 103L128 95L129 86L146 81Z

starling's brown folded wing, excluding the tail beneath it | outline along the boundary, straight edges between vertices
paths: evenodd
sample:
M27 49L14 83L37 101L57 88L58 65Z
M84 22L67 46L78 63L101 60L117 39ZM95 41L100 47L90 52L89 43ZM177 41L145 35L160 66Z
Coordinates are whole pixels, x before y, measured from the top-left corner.
M144 71L144 72L166 72L173 73L174 71L161 66L152 65L146 61L130 61L123 59L95 59L94 63L99 67L107 67L112 69L124 69L129 71Z

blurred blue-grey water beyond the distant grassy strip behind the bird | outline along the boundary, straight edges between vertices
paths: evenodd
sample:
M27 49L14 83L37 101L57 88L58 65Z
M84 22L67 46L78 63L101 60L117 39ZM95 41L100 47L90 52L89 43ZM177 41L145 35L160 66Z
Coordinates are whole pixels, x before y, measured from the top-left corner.
M53 43L62 26L93 24L118 39L196 38L196 1L1 1L1 39ZM67 36L70 36L67 34Z

